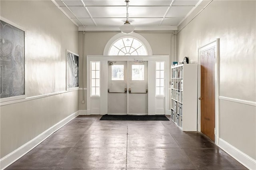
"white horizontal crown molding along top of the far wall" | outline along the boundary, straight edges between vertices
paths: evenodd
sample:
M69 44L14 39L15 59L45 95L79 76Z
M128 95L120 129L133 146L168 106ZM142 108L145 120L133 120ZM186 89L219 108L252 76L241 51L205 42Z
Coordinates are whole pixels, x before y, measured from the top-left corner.
M177 26L136 26L134 31L177 31ZM120 31L118 26L79 26L78 31ZM120 31L121 32L121 31Z

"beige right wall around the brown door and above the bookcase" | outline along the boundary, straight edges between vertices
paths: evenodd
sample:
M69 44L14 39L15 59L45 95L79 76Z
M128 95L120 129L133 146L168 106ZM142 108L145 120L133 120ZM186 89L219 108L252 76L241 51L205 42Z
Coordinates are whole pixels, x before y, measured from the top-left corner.
M193 18L205 0L179 27ZM177 35L178 60L220 38L220 96L256 102L256 1L212 1ZM219 100L219 137L256 159L256 107Z

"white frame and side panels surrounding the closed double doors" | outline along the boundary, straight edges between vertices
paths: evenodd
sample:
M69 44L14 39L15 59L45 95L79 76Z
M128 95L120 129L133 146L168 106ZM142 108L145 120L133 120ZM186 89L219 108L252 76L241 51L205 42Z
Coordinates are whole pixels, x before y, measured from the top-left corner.
M100 96L90 95L90 62L100 61ZM156 115L157 102L161 96L155 95L155 84L156 84L156 70L150 69L156 67L156 61L165 62L165 95L162 96L164 99L164 113L168 115L169 109L169 55L140 55L140 56L127 56L127 55L87 55L86 56L86 69L87 69L87 114L105 115L108 113L108 61L148 61L148 115ZM103 71L102 71L103 70ZM104 72L105 70L105 72ZM152 77L151 79L149 77ZM94 103L92 103L92 100ZM96 104L95 104L96 103ZM94 108L95 107L95 108ZM95 111L94 111L95 110Z

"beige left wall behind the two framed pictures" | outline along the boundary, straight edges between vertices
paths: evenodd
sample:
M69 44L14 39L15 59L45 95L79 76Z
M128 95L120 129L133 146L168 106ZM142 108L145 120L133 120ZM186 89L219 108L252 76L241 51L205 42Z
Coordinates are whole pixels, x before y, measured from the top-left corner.
M78 111L78 91L33 99L65 92L66 49L78 53L78 28L52 1L0 3L1 17L25 30L25 93L32 99L0 107L2 158Z

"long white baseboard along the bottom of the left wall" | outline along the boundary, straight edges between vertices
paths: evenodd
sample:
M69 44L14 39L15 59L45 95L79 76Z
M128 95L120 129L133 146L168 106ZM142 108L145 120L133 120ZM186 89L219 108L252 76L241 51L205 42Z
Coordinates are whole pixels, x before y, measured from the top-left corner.
M40 144L42 141L44 141L46 138L48 138L51 134L56 132L58 129L66 125L68 122L70 122L72 119L78 116L78 111L73 113L72 115L66 117L62 121L58 122L56 125L48 128L46 131L42 132L29 142L25 143L24 145L20 146L18 149L14 150L10 154L4 156L0 159L0 170L3 170L4 168L10 166L13 162L24 156L26 153L28 153L30 150L35 148L38 144Z

